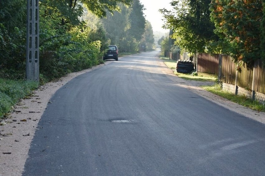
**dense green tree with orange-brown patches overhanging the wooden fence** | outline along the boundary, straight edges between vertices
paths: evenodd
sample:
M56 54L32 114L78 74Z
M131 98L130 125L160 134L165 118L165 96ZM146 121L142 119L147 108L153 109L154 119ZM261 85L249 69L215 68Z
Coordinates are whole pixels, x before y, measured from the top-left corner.
M224 53L247 65L260 59L261 0L213 0L210 10L214 32L223 40Z

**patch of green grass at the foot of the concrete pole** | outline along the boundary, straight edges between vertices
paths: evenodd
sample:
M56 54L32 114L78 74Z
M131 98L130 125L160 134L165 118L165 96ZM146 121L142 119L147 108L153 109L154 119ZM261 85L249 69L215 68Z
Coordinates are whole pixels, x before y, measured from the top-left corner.
M36 81L15 81L0 78L0 118L12 109L20 99L30 95L37 89Z

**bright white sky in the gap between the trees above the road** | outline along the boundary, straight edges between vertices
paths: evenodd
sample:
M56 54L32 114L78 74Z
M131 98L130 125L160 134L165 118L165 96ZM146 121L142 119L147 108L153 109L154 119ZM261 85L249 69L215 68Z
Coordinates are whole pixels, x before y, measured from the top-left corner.
M172 9L170 6L170 2L172 0L140 0L140 2L146 8L144 14L146 15L146 20L148 20L153 28L153 31L160 31L160 32L169 32L169 29L163 29L162 25L164 22L162 21L163 16L158 11L159 9L166 8L167 10Z

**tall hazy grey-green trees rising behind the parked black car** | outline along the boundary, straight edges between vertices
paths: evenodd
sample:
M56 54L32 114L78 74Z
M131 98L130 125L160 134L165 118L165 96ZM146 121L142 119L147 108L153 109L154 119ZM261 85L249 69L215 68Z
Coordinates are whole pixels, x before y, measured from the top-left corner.
M133 0L131 7L120 5L120 13L107 13L102 23L110 44L117 45L120 52L136 52L145 31L143 5L139 0Z

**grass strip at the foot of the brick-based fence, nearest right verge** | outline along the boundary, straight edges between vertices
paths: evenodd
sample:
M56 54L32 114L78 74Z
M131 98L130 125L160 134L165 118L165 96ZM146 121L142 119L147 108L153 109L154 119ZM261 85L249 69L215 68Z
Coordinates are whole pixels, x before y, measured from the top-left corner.
M222 90L219 84L215 84L213 86L202 86L204 90L212 92L213 94L219 95L225 99L228 99L232 102L238 103L245 107L251 108L256 111L265 112L265 105L253 101L250 98L243 96L243 95L235 95L228 91Z

